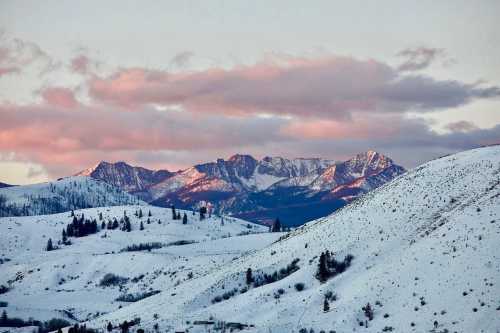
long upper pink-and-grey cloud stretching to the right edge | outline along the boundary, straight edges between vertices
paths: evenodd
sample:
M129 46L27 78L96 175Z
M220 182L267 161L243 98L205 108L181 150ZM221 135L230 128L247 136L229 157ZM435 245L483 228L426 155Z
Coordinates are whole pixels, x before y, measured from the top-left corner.
M500 96L499 87L403 75L382 62L350 57L289 58L181 73L129 68L94 77L89 92L94 100L134 110L162 104L181 105L195 113L337 120L359 111L432 112Z

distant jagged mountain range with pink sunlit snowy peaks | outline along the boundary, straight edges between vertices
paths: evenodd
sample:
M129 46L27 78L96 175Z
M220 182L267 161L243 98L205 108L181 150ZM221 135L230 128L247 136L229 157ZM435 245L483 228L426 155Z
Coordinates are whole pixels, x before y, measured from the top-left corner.
M184 170L149 170L125 162L100 162L79 172L160 207L197 209L287 225L328 215L360 195L403 174L390 158L367 151L347 161L233 155Z

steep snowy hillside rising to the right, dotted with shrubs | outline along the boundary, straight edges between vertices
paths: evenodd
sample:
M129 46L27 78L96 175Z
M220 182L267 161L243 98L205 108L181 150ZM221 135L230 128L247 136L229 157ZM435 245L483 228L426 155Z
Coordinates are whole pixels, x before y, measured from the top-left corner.
M499 244L500 146L493 146L431 161L261 251L88 325L140 317L140 327L162 331L205 332L194 322L213 319L251 324L252 332L493 333L500 328ZM320 283L315 274L325 250L354 260ZM248 268L271 273L294 258L298 271L240 293ZM229 299L211 302L233 288ZM337 299L325 313L329 291ZM368 302L374 319L365 328L359 323Z

